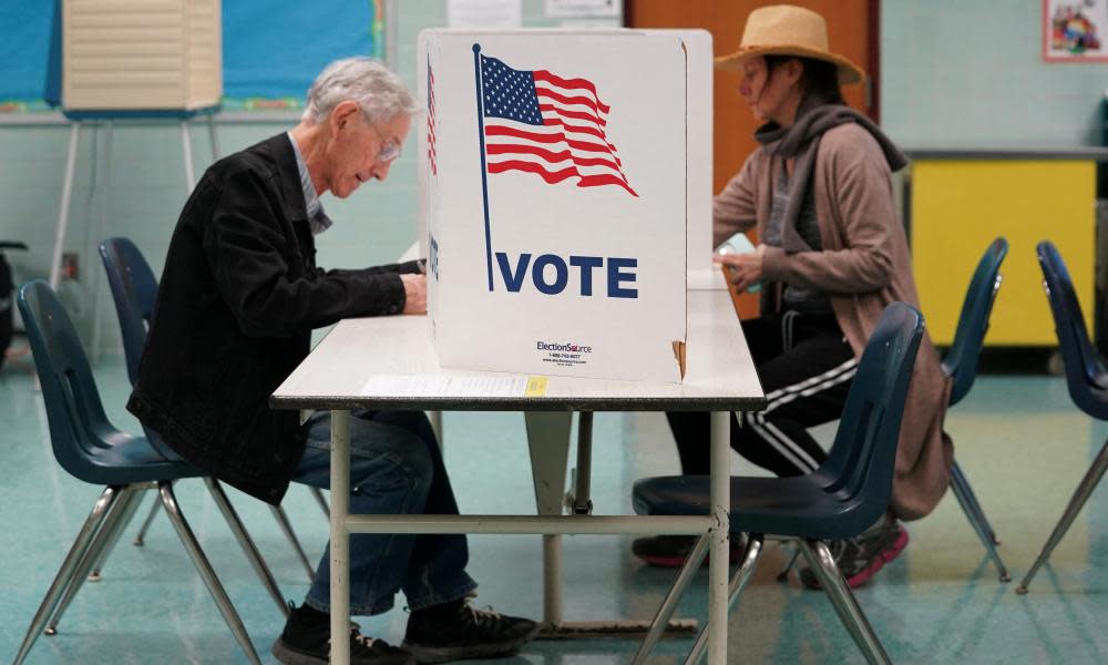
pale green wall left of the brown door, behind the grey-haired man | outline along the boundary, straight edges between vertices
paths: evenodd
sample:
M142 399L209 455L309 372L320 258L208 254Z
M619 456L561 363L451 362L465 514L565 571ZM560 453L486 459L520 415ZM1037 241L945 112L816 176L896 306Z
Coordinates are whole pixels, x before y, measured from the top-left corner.
M399 9L398 70L414 91L417 34L423 28L447 25L447 0L392 6ZM564 20L546 17L545 0L523 0L522 18L527 27L557 25ZM290 126L285 120L220 124L219 150L230 153ZM324 197L335 226L317 238L320 265L389 263L416 239L416 132L420 126L413 124L403 155L387 183L368 183L347 201ZM130 237L146 255L154 273L161 275L170 236L187 197L177 125L116 125L112 134L109 174L106 130L82 132L65 243L65 252L78 254L80 275L59 289L86 347L94 350L93 356L123 352L96 250L100 241L113 235ZM20 239L31 246L29 252L8 254L17 284L49 278L69 136L68 125L0 124L0 238ZM194 126L192 145L198 177L212 163L205 124ZM96 200L91 198L94 160L101 162Z

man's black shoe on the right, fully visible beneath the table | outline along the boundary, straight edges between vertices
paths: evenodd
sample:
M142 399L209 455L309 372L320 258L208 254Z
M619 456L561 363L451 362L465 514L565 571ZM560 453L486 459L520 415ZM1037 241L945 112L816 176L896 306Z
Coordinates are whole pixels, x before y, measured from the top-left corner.
M503 656L537 633L530 618L478 610L461 598L412 612L402 646L419 663L445 663Z

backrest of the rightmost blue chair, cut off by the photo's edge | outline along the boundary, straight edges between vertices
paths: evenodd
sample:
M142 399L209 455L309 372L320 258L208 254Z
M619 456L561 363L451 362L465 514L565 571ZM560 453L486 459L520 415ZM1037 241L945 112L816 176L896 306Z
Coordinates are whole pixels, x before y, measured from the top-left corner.
M1108 371L1100 354L1089 341L1081 304L1074 293L1069 270L1054 243L1044 241L1035 249L1039 267L1043 268L1043 286L1050 301L1054 329L1058 335L1058 347L1066 366L1069 397L1086 413L1105 418L1106 403L1094 391L1108 389Z

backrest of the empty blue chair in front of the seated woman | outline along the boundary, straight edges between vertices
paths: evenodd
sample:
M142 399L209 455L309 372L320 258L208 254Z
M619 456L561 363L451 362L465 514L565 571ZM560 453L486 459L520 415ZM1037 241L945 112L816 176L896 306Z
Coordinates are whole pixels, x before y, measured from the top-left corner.
M834 443L819 470L832 479L828 491L862 504L855 515L860 529L889 507L901 418L922 338L923 316L915 308L904 303L885 307L865 342Z

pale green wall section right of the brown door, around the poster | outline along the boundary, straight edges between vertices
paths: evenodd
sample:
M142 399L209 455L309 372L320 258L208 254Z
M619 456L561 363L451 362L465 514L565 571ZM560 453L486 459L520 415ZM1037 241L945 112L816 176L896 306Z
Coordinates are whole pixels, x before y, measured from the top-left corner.
M881 121L909 147L1096 145L1108 63L1044 62L1040 0L883 0Z

